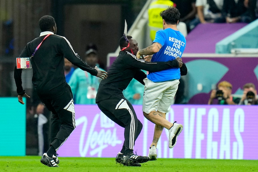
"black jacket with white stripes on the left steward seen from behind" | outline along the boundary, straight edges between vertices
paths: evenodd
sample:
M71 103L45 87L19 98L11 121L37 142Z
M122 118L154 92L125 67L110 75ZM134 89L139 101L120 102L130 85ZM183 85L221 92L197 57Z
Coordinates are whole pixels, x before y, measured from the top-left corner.
M98 71L81 60L74 52L70 42L63 36L54 35L46 31L40 37L28 42L19 57L31 57L35 48L40 44L47 34L48 36L31 58L33 69L32 83L40 97L55 98L63 94L67 86L64 75L64 57L75 66L96 76ZM25 69L29 70L29 69ZM22 69L14 69L14 79L18 95L23 95Z

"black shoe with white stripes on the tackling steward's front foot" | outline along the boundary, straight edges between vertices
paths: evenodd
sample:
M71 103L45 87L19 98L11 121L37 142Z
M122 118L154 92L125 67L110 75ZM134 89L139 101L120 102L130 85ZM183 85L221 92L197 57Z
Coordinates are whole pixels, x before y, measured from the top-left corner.
M139 156L131 152L127 156L123 157L122 164L126 166L131 166L133 163L144 163L149 160L150 158L148 156Z

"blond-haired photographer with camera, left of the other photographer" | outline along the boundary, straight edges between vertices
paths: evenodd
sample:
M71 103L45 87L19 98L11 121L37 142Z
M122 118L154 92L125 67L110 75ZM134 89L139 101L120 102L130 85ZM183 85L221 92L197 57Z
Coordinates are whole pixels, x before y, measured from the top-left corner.
M213 104L213 99L218 99L220 105L237 105L240 98L233 97L232 85L227 81L221 81L218 83L218 89L212 90L208 104Z

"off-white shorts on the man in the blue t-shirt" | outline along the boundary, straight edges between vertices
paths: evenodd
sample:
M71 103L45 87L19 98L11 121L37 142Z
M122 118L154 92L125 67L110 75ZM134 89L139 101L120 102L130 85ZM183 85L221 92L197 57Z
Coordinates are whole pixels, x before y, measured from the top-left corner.
M154 83L145 78L142 111L149 114L152 111L168 113L177 92L179 80Z

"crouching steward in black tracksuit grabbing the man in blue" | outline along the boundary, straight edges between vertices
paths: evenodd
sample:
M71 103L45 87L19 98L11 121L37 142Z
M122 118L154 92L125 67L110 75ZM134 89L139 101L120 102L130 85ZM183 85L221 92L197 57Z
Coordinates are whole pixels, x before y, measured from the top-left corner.
M141 166L139 163L147 162L149 157L134 155L133 147L142 130L142 123L137 119L132 104L124 97L122 91L126 89L133 78L144 85L143 79L146 78L146 74L141 69L156 72L169 68L179 68L183 62L181 58L155 63L137 59L135 55L138 51L138 43L132 36L127 36L127 38L129 44L125 36L122 36L119 41L122 51L107 71L107 79L101 80L96 103L108 118L125 128L125 141L122 150L116 157L116 162L127 166Z

